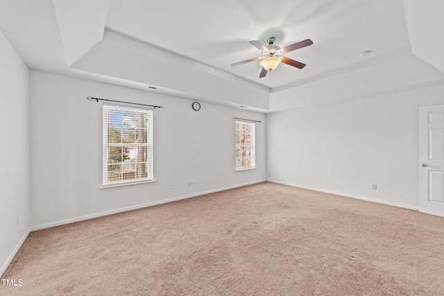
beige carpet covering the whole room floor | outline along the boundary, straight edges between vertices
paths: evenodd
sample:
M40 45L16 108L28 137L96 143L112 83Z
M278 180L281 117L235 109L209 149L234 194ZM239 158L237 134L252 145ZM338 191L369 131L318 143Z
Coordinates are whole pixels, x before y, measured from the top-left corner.
M0 295L444 295L444 218L264 182L32 232Z

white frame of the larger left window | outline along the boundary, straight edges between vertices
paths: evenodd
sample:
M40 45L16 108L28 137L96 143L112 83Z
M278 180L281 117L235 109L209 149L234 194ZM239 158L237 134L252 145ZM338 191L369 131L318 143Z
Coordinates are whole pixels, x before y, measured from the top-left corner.
M135 107L133 105L120 105L120 104L111 104L111 103L103 103L103 107L102 107L102 121L103 121L103 126L102 126L102 146L103 146L103 150L102 150L102 189L105 188L112 188L112 187L116 187L116 186L126 186L126 185L132 185L132 184L142 184L142 183L148 183L148 182L155 182L154 179L154 169L153 169L153 108L150 107ZM142 112L143 114L146 114L147 117L147 122L144 125L144 130L146 130L146 143L136 143L136 138L135 141L132 143L125 143L123 141L123 137L122 137L122 133L123 130L121 130L121 142L120 143L108 143L108 137L109 137L109 131L110 131L110 110L121 110L121 111L127 111L127 112ZM137 113L136 113L137 116ZM124 121L123 118L121 119L121 125L124 125ZM137 129L139 127L135 128L134 132L135 132L135 137L137 134ZM122 177L121 180L116 180L116 181L110 181L108 178L108 166L110 166L110 163L108 162L108 153L109 153L109 149L110 147L132 147L132 148L138 148L138 147L146 147L146 150L144 151L144 153L146 153L146 159L144 159L145 161L142 163L146 163L146 175L147 177L137 177L137 165L138 164L142 164L139 162L134 162L134 166L135 168L135 177L131 178L131 179L124 179L123 177L123 170L122 170ZM138 153L137 149L136 150L136 155ZM123 154L123 153L122 153ZM118 163L121 164L122 166L124 166L124 162ZM128 164L129 166L131 164Z

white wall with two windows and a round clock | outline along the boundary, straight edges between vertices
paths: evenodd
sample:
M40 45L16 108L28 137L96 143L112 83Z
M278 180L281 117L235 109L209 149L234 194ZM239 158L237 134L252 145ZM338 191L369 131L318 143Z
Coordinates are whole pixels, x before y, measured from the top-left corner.
M99 189L102 104L87 96L164 106L154 112L157 182ZM191 103L32 70L31 229L265 180L266 115L205 102L195 112ZM262 121L255 170L234 171L234 116Z

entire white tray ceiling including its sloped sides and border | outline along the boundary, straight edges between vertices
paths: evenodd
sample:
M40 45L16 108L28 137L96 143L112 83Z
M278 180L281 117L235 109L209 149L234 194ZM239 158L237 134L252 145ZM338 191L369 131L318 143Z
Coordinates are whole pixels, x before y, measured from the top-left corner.
M396 60L417 64L400 85L443 78L411 52L407 23L403 0L0 1L0 31L28 67L131 87L154 85L262 112L285 109L301 86L307 105L310 85L317 89L351 72L368 79L378 65L386 71L387 62L395 63L388 71L394 76L409 73L397 69ZM265 78L258 77L259 61L230 67L260 55L248 41L266 44L272 36L281 47L313 40L285 54L307 67L280 64ZM373 52L359 55L368 50ZM348 94L336 90L325 102L335 96ZM291 107L298 107L293 101Z

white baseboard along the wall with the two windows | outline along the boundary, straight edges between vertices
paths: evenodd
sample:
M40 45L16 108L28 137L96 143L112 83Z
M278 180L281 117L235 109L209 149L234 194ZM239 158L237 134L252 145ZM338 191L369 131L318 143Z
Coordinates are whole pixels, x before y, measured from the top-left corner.
M228 187L224 187L224 188L220 188L220 189L214 189L214 190L210 190L210 191L202 191L202 192L198 192L198 193L192 193L192 194L189 194L189 195L178 196L176 198L168 198L166 200L157 200L155 202L147 202L145 204L137 204L135 206L124 207L124 208L120 208L120 209L114 209L112 211L103 211L101 213L90 214L90 215L85 215L85 216L80 216L80 217L70 218L70 219L65 219L65 220L59 220L59 221L56 221L56 222L51 222L51 223L46 223L46 224L41 224L41 225L35 225L35 226L31 227L31 232L34 232L34 231L40 230L40 229L49 228L49 227L55 227L55 226L69 224L69 223L74 223L74 222L78 222L78 221L82 221L82 220L87 220L87 219L92 219L92 218L99 218L99 217L102 217L102 216L108 216L108 215L112 215L112 214L117 214L117 213L121 213L123 211L131 211L133 209L142 209L144 207L151 207L151 206L155 206L157 204L164 204L164 203L167 203L167 202L174 202L176 200L184 200L186 198L194 198L194 197L200 196L200 195L205 195L205 194L209 194L209 193L224 191L224 190L228 190L228 189L234 189L234 188L238 188L238 187L248 186L248 185L251 185L251 184L261 183L261 182L266 182L266 180L259 180L259 181L255 181L255 182L245 183L245 184L228 186Z

